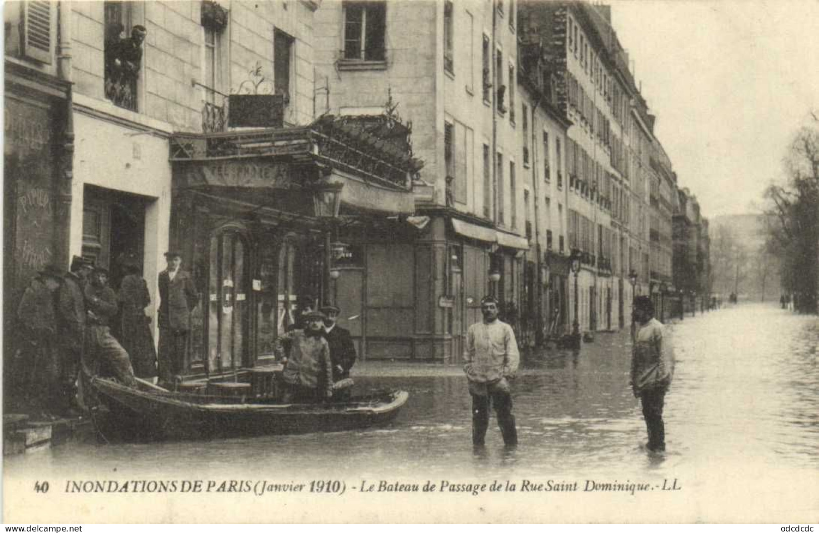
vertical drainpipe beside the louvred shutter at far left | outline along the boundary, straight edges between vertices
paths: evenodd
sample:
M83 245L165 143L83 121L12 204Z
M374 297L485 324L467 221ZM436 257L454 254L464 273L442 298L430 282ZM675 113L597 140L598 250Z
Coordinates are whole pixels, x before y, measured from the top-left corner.
M71 82L71 25L70 2L57 2L57 24L59 43L57 44L57 75L66 82ZM72 110L72 91L68 88L66 106L64 107L65 128L62 131L58 149L58 169L56 182L57 213L55 219L54 259L57 265L66 270L70 260L71 241L71 201L74 178L74 118Z

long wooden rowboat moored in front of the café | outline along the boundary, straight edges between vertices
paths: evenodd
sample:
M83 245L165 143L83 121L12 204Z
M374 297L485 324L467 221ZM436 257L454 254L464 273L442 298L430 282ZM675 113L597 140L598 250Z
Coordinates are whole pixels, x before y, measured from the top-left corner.
M277 400L171 392L93 377L107 409L95 415L106 440L165 440L260 436L371 427L395 418L405 391L352 396L344 403L283 404Z

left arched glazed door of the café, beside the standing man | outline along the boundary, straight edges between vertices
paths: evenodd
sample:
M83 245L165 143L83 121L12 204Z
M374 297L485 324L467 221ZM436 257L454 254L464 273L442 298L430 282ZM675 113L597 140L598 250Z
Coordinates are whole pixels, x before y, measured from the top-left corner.
M236 371L250 364L247 353L247 243L238 231L210 237L208 350L210 372Z

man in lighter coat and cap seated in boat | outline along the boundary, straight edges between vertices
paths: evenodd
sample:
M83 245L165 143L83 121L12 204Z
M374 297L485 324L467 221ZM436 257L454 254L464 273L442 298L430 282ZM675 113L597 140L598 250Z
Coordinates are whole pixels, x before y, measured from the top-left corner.
M333 363L324 339L324 313L304 314L304 328L278 337L274 352L284 360L284 403L322 401L333 397Z

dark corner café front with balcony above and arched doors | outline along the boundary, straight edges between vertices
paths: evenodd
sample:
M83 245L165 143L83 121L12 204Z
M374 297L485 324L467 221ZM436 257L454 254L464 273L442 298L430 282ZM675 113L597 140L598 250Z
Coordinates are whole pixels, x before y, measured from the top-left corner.
M361 347L364 247L339 239L412 215L409 184L420 168L373 142L351 119L332 117L305 128L172 138L170 247L182 253L200 299L187 377L268 363L275 339L325 303L342 304L340 323Z

